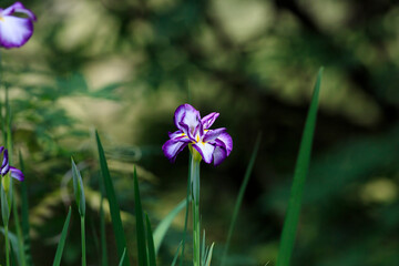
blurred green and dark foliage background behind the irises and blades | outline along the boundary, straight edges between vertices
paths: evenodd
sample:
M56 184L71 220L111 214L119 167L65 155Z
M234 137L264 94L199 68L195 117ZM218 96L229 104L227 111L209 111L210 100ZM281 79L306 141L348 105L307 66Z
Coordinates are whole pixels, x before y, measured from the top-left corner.
M12 100L14 147L25 160L35 265L51 265L55 254L73 196L71 155L80 163L88 197L88 264L100 265L93 129L105 146L135 260L133 165L156 225L185 197L188 152L170 164L161 146L175 130L174 110L188 101L202 115L219 112L214 126L226 126L234 140L221 166L202 165L202 223L208 242L216 243L214 265L260 131L229 263L274 265L320 65L319 116L293 265L398 264L398 1L23 4L38 22L28 44L1 50L2 88ZM63 265L80 265L75 207L72 215ZM183 223L180 216L168 232L160 265L170 265ZM108 241L115 265L110 223Z

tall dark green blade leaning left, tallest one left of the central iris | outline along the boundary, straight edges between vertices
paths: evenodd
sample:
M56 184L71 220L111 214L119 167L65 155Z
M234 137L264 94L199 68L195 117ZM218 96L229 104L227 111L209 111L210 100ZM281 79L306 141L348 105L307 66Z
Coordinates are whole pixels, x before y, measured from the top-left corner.
M116 239L116 248L117 254L120 257L122 257L123 250L126 248L126 239L125 234L122 226L122 219L121 219L121 212L120 207L116 201L115 191L111 181L110 171L106 164L104 150L102 147L99 133L95 132L95 140L99 149L99 158L100 158L100 166L101 166L101 173L104 182L104 187L106 192L106 197L109 200L110 204L110 212L111 212L111 219L112 219L112 227L115 234ZM124 259L123 265L130 265L129 259Z

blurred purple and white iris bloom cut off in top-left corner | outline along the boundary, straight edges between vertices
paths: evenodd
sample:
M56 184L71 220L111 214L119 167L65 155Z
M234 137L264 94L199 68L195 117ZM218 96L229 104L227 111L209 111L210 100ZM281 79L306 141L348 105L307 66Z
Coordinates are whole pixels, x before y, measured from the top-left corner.
M28 18L13 16L24 13ZM16 2L7 9L0 9L0 47L10 49L19 48L33 34L33 21L37 18L32 11Z

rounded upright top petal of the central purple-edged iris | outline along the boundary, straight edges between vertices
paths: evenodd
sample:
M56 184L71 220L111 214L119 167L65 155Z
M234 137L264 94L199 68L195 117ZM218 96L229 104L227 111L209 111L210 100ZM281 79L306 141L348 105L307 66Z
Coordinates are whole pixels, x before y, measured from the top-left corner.
M185 103L176 109L173 121L177 129L193 136L194 130L201 124L201 116L195 108Z

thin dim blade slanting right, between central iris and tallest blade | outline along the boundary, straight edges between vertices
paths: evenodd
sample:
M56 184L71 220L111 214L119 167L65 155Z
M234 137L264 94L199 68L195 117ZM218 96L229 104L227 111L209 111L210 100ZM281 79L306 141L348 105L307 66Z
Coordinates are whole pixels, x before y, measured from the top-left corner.
M247 168L245 171L243 183L242 183L242 185L239 187L238 196L237 196L237 200L236 200L236 203L235 203L235 206L234 206L234 211L233 211L232 222L231 222L229 227L228 227L226 245L224 247L223 255L222 255L221 266L223 266L225 264L225 260L226 260L226 257L227 257L228 247L229 247L229 244L231 244L231 241L232 241L234 227L235 227L235 224L236 224L236 221L237 221L237 217L238 217L238 212L239 212L241 205L243 203L245 190L247 187L252 171L254 168L255 160L256 160L257 152L258 152L259 145L260 145L260 140L262 140L262 133L259 133L257 135L257 137L256 137L255 146L254 146L253 153L250 155L248 166L247 166Z

